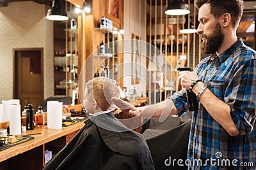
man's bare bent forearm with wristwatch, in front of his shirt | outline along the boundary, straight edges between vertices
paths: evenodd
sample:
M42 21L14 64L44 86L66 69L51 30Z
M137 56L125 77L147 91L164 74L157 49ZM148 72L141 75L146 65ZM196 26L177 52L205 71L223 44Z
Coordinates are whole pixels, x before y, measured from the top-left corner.
M203 85L204 84L202 82L197 83L193 88L193 92L197 94L198 90ZM220 124L228 132L228 134L230 134L230 136L237 136L239 134L239 131L237 130L236 125L234 124L234 121L230 115L230 106L227 103L224 103L218 99L218 97L212 94L211 90L209 89L205 89L200 97L200 102L203 104L204 108L208 111L211 117L214 118L214 120L216 120L216 122L218 122L218 124Z

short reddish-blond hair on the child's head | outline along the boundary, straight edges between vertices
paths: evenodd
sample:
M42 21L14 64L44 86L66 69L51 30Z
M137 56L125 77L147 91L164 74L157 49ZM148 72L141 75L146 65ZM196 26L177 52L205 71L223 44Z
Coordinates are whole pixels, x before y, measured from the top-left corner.
M110 78L97 77L86 83L89 100L95 99L100 110L109 110L112 97L120 97L116 81Z

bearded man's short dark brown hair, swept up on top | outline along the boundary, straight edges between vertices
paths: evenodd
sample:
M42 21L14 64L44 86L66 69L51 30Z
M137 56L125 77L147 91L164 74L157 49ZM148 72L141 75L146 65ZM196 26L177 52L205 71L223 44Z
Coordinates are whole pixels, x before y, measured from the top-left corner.
M195 0L194 4L197 9L203 4L210 4L211 13L215 18L220 18L224 13L230 13L233 27L238 27L243 15L243 0Z

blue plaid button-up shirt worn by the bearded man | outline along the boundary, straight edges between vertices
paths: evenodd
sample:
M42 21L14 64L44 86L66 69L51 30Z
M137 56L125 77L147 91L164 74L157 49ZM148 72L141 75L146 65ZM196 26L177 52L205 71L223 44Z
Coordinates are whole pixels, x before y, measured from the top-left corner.
M230 106L239 135L230 136L199 102L190 129L189 169L256 169L255 50L238 39L214 59L203 59L195 72L218 99ZM185 90L171 99L182 116L188 110Z

